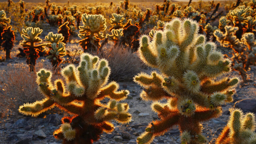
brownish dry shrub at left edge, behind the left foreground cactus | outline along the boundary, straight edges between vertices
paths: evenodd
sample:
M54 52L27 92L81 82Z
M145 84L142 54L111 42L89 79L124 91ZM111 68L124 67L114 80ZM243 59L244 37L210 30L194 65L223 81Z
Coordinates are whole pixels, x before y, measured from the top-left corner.
M42 60L43 61L43 60ZM38 62L35 72L41 68L52 69L49 62ZM0 117L18 113L18 107L27 102L42 99L43 95L37 90L36 73L30 72L25 63L8 64L0 70ZM60 78L54 74L53 79ZM7 114L7 115L6 115ZM15 115L11 114L11 115Z

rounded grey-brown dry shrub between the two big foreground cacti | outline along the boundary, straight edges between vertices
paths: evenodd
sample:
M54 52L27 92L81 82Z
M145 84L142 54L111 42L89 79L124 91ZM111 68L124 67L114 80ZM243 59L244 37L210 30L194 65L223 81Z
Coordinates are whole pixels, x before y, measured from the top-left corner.
M93 54L108 60L111 68L110 79L115 81L131 81L133 76L145 67L137 53L124 46L107 44L98 54Z

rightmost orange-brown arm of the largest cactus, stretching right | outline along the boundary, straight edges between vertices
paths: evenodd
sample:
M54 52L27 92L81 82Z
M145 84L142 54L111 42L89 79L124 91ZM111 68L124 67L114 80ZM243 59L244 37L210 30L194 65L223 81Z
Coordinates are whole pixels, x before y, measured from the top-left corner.
M202 87L201 91L204 93L214 93L214 92L222 92L226 91L230 88L235 87L238 84L239 79L238 78L224 78L218 82L205 82Z

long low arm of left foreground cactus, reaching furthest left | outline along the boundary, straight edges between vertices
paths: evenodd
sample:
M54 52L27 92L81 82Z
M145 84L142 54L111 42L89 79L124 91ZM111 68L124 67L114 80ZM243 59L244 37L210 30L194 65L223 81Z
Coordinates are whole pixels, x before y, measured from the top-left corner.
M39 114L53 108L55 102L52 99L45 98L41 101L36 101L34 103L26 103L19 107L19 112L24 115L31 115L36 117Z

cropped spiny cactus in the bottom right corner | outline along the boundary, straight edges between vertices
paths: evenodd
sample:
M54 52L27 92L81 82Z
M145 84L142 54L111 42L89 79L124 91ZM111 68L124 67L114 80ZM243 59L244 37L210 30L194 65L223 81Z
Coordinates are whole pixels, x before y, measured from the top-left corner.
M255 144L255 115L244 114L240 109L232 109L227 126L222 130L216 144Z

